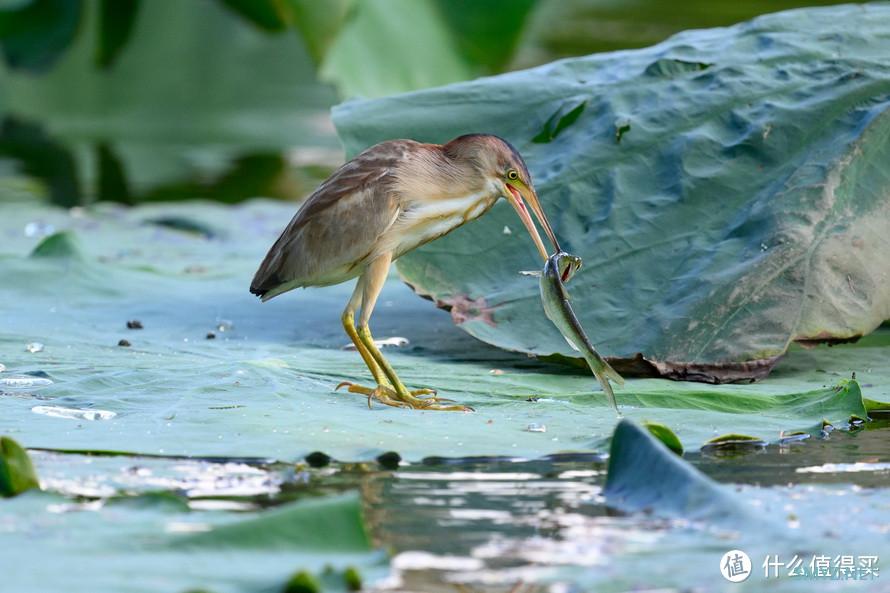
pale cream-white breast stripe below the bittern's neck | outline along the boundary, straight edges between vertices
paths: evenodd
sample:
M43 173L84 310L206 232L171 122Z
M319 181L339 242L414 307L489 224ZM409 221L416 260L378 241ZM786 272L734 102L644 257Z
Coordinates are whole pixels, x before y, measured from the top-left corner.
M482 216L497 198L491 192L480 192L406 205L386 233L393 255L398 257Z

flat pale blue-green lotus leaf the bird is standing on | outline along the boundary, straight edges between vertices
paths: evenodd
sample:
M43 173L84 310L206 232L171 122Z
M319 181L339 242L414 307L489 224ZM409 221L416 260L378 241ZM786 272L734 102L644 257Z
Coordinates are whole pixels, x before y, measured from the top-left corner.
M370 380L342 349L351 286L264 304L247 291L293 208L0 207L3 432L28 447L282 460L607 450L617 419L589 374L487 346L395 279L372 320L379 338L410 340L388 349L390 360L409 385L476 413L368 409L364 397L335 393L341 380ZM131 320L143 329L127 329ZM617 397L626 417L667 425L688 450L726 433L775 441L864 416L863 395L890 401L888 346L879 332L795 347L756 385L640 379ZM858 383L844 382L854 371ZM529 431L535 424L546 432Z

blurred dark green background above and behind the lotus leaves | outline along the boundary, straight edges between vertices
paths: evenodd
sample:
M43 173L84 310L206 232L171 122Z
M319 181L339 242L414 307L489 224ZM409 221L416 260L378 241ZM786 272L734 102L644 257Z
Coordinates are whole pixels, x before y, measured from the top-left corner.
M299 200L342 161L339 101L819 4L0 0L0 200Z

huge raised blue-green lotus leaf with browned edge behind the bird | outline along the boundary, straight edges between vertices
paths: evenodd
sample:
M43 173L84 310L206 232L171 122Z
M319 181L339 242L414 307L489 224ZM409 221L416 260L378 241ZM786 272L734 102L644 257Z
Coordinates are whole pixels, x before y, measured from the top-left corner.
M397 137L507 138L586 262L574 309L619 370L755 378L795 340L890 317L888 53L886 4L798 10L346 103L334 121L350 155ZM486 342L572 356L517 273L539 265L521 229L502 205L399 271Z

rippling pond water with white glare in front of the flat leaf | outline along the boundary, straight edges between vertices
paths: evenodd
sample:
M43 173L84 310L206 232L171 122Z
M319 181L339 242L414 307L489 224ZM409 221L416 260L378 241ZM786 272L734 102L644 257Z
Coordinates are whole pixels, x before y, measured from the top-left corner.
M774 555L790 560L794 554L829 549L886 555L888 433L890 422L876 421L853 432L835 431L756 452L687 454L696 468L732 485L743 504L777 517L789 533L818 533L820 541L812 550L806 540L794 545L781 538L760 541L732 530L610 509L602 495L606 462L596 455L430 458L389 469L379 463L313 469L256 459L52 452L35 452L34 461L43 485L67 497L46 504L51 514L88 513L102 524L109 520L103 506L115 508L107 502L113 497L141 495L143 507L163 507L170 502L144 497L167 491L187 505L166 512L168 531L200 530L220 514L252 514L358 489L374 543L392 555L391 567L368 569L377 577L374 590L617 592L643 590L657 579L664 587L659 591L716 591L726 583L718 576L720 556L740 547L754 562L750 590L807 591L837 583L784 572L766 578L763 560ZM15 529L15 523L5 519L7 529ZM81 537L81 545L89 549L101 547L107 536L98 530ZM207 586L212 585L211 580ZM845 585L887 590L880 580Z

